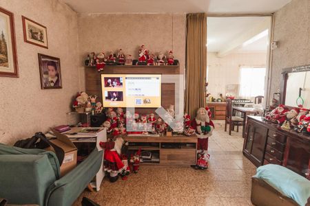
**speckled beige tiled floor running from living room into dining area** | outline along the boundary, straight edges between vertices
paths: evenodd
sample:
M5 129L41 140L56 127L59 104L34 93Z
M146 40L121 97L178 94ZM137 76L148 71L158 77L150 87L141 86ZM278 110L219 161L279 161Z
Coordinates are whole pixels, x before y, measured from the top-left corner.
M100 205L251 205L256 167L242 155L241 134L229 136L222 122L216 122L208 170L142 165L127 181L104 179L99 192L85 190L74 205L81 205L83 196Z

